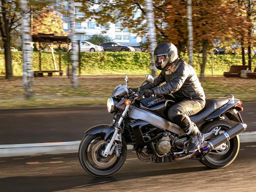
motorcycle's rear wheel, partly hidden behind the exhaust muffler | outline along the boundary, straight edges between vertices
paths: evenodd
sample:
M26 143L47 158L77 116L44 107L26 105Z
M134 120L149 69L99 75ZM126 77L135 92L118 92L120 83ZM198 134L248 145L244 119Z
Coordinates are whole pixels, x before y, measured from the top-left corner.
M226 121L213 121L210 124L206 125L202 133L207 133L214 129L214 127L221 127L220 131L226 131L232 127L232 125ZM209 138L208 140L216 137L215 135ZM240 148L240 140L239 136L233 137L232 139L222 143L225 146L222 150L212 150L209 154L205 156L204 159L200 160L202 164L209 168L221 168L226 167L231 164L234 159L236 159L239 148Z

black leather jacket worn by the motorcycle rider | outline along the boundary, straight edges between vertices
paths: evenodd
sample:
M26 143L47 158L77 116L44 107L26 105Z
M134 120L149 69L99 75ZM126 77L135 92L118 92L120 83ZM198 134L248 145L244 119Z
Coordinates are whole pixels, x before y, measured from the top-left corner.
M163 82L166 83L159 86ZM180 58L171 69L162 70L152 84L140 87L140 90L144 89L152 89L155 95L171 93L177 100L205 100L204 90L194 68Z

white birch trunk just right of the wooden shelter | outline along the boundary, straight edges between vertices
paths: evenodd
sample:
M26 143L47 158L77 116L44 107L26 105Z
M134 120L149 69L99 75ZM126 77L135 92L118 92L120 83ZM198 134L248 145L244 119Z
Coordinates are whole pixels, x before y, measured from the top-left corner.
M75 6L74 0L69 1L69 13L70 13L70 29L71 29L71 42L72 42L72 51L71 51L71 62L72 62L72 85L74 88L78 87L78 78L77 78L77 62L78 62L78 45L76 39L76 28L75 28Z

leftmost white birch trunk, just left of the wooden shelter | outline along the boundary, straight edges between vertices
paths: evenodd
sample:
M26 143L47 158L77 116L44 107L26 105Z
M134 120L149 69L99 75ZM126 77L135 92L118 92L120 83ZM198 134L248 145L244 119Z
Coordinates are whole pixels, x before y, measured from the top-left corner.
M27 0L21 0L20 1L20 6L23 10L23 12L27 11ZM24 89L25 89L25 97L27 99L32 97L32 78L33 78L33 72L31 70L31 60L32 60L32 47L31 47L31 42L32 42L32 37L30 34L30 23L29 20L27 19L29 17L24 16L22 19L22 29L23 29L23 50L22 50L22 55L23 55L23 84L24 84Z

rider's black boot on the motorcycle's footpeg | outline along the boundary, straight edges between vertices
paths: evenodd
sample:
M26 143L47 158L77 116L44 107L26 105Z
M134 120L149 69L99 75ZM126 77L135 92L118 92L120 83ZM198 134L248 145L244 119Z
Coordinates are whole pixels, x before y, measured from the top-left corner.
M198 127L193 123L189 126L187 134L190 136L188 141L188 153L195 153L204 142L204 138L199 131Z

